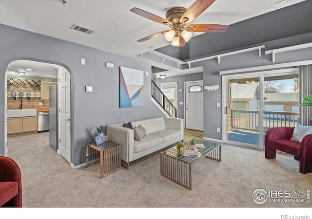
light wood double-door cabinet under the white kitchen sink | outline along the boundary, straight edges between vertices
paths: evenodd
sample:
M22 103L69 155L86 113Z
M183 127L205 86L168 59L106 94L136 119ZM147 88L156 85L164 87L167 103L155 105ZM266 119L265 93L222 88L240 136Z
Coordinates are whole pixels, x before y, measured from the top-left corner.
M37 116L7 118L7 134L38 131Z

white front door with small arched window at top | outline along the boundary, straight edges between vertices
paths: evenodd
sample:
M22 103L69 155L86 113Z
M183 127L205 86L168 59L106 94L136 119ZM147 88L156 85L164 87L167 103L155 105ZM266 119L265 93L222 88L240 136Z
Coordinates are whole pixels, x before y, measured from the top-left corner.
M204 130L203 82L185 82L185 128Z

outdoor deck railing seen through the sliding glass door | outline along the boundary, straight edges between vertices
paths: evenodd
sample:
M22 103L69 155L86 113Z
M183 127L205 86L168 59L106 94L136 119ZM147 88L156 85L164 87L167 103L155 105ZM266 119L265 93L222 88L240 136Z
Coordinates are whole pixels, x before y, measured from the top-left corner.
M264 131L271 127L295 127L299 112L264 111ZM234 129L259 131L259 110L231 110L231 126Z

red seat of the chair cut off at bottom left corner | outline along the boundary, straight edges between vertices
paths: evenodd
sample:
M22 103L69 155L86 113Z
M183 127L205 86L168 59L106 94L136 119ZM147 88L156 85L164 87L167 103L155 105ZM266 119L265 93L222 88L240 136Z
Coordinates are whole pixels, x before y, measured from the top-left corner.
M0 182L0 206L14 198L19 192L19 183Z

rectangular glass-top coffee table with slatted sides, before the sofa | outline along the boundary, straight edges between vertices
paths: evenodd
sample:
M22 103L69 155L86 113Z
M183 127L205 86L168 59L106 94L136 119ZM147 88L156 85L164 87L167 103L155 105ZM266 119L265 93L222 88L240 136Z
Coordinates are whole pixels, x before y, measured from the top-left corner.
M221 143L195 138L196 144L203 144L204 148L197 148L198 155L183 156L179 147L172 147L160 153L160 175L192 190L192 165L203 157L221 161ZM186 146L190 142L184 143Z

